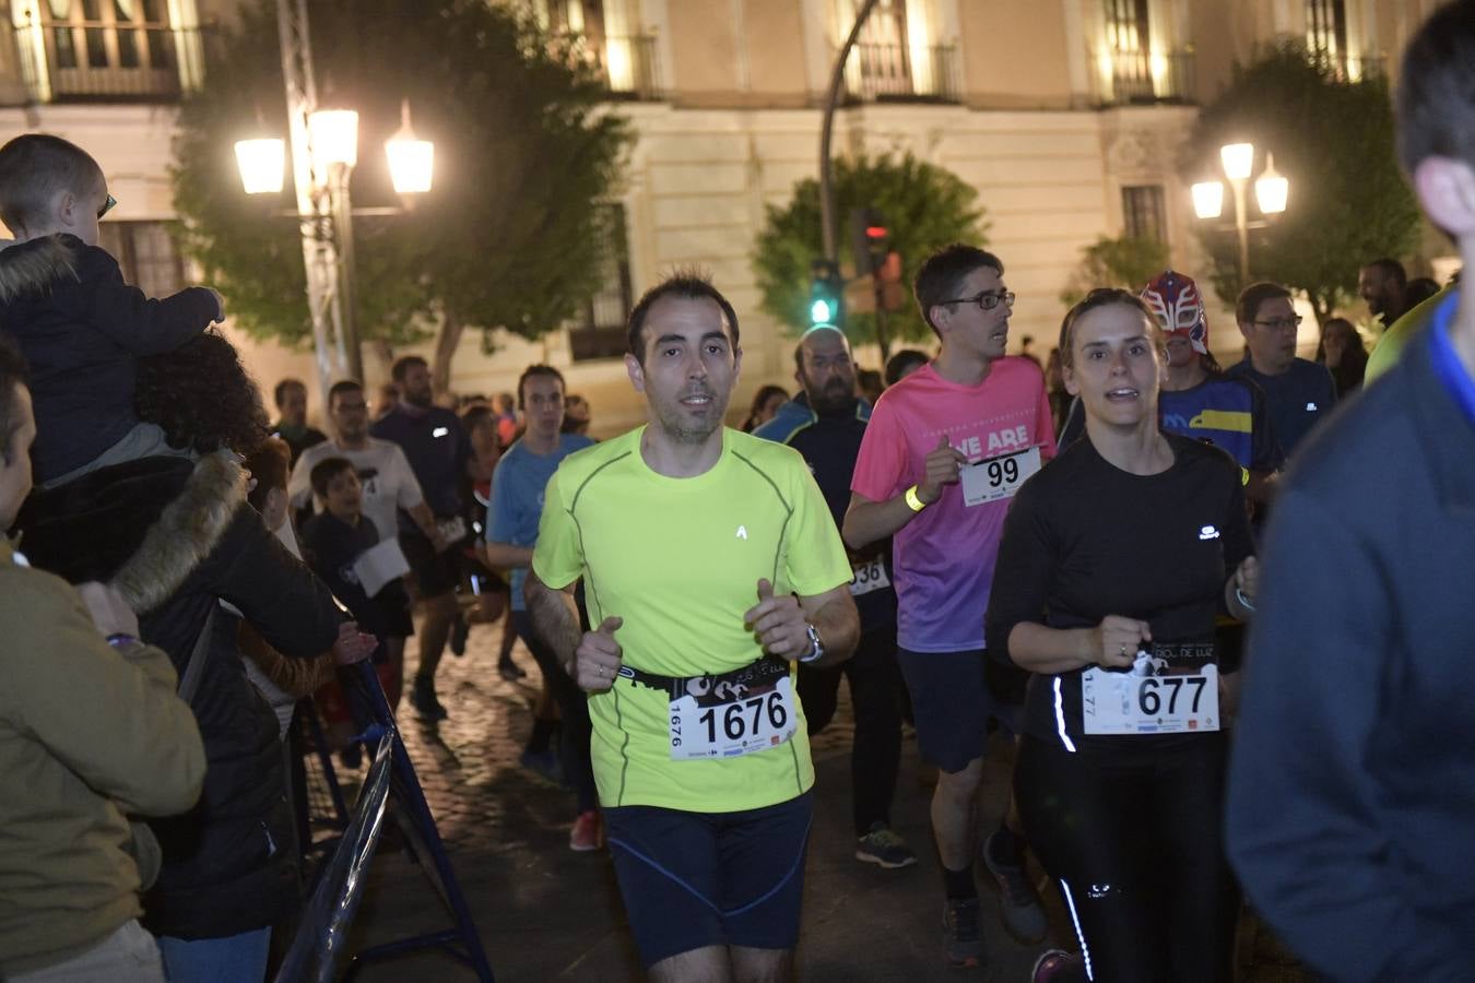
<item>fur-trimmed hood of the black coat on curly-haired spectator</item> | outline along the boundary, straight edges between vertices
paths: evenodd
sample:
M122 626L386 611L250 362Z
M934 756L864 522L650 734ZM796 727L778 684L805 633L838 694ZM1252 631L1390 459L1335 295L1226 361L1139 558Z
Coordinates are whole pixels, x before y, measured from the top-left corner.
M35 566L111 582L146 615L220 544L245 500L246 473L229 451L149 457L35 492L16 525Z

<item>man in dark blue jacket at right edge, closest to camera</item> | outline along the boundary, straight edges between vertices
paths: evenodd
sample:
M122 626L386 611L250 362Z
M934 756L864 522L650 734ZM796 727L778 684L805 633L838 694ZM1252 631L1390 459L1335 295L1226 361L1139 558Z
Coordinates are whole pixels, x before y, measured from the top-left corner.
M1398 144L1475 262L1475 0L1403 57ZM1264 550L1229 850L1335 980L1471 979L1475 939L1475 296L1298 452Z

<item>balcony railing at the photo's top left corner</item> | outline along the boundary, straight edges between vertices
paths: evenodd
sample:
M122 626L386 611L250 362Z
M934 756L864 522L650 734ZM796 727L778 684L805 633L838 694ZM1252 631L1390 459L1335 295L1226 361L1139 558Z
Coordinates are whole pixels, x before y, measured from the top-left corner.
M35 102L170 102L202 62L198 28L40 22L18 27L15 37Z

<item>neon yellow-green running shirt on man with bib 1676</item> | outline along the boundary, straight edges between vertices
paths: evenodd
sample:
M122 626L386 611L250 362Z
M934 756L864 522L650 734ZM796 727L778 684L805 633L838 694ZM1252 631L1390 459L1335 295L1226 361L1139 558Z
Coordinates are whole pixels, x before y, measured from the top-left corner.
M804 458L723 430L717 464L665 477L640 457L645 427L580 451L544 492L532 569L550 588L584 578L590 622L624 619L625 665L665 676L739 669L763 656L743 613L774 594L848 584L850 563ZM794 669L791 666L791 684ZM814 784L802 710L792 738L740 758L673 760L668 694L628 679L589 697L600 805L733 812Z

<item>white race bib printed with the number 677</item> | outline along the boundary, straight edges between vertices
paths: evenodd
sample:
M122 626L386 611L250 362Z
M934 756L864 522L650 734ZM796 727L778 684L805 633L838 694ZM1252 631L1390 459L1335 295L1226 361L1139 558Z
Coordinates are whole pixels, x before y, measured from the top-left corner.
M1139 653L1130 672L1100 666L1081 674L1081 730L1087 734L1189 734L1217 731L1218 666L1171 672Z

